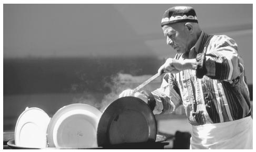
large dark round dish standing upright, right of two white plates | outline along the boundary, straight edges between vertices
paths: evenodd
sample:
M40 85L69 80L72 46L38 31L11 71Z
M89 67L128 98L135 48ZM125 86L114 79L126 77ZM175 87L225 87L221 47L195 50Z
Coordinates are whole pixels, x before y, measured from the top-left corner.
M97 128L98 146L155 142L156 121L150 107L133 96L108 105Z

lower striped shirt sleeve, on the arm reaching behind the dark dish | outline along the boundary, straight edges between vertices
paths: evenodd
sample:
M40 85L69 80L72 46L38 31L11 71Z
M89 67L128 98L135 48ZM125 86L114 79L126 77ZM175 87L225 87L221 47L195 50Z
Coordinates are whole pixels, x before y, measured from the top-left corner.
M178 83L171 73L164 75L161 87L153 91L152 94L156 102L154 114L171 113L182 104Z

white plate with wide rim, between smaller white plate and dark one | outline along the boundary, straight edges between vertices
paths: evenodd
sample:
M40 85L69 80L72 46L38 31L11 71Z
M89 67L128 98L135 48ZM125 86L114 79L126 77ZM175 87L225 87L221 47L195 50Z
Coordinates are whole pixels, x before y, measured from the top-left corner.
M62 107L52 117L47 129L49 147L97 147L97 125L102 112L88 104Z

